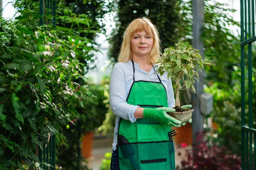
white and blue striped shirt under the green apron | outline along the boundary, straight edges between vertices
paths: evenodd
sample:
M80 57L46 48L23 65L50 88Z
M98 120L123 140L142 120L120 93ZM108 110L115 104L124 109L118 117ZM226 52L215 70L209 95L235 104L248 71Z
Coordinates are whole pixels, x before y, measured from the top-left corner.
M126 102L128 93L133 83L133 74L135 76L135 81L144 80L159 82L159 79L155 74L154 68L152 68L151 71L147 73L143 71L139 67L139 64L136 62L134 62L134 68L135 74L133 73L133 66L131 60L129 60L128 62L118 62L114 65L111 74L109 85L110 106L112 112L116 115L113 150L116 150L117 132L120 118L129 120L131 123L134 123L136 121L134 113L139 106L130 105ZM166 73L163 74L160 79L166 88L168 107L173 108L175 107L175 99L172 88L172 81L171 79L167 78Z

